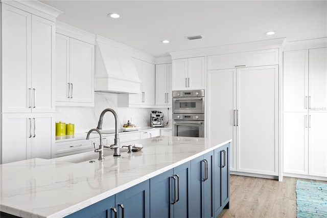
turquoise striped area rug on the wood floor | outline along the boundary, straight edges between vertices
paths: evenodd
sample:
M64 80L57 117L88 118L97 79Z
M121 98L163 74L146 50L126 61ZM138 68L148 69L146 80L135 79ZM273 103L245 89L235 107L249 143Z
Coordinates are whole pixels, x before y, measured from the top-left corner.
M327 184L296 181L297 217L327 217Z

